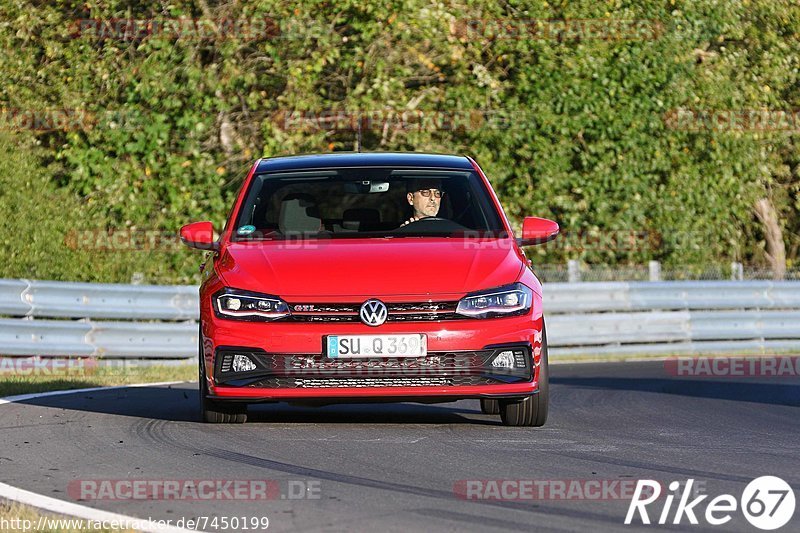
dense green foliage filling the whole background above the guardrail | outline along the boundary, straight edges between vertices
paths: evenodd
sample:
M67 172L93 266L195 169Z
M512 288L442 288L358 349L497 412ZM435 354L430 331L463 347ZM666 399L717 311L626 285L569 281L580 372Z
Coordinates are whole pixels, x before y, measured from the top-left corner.
M75 35L78 19L264 17L273 31L259 35ZM504 38L492 26L498 19L639 20L645 38ZM295 111L419 113L424 126L367 124L365 149L473 155L515 224L538 215L573 236L650 236L635 246L531 249L537 262L762 262L753 204L763 197L780 215L790 258L800 248L800 125L794 133L682 130L668 120L679 108L797 109L800 7L792 0L304 0L291 8L6 0L0 20L0 107L93 117L68 131L15 132L2 145L0 206L20 213L3 221L14 259L2 277L197 279L199 257L176 247L87 255L54 243L67 227L220 227L256 157L353 149L354 131L292 127ZM431 126L447 115L456 126ZM22 244L17 235L39 237Z

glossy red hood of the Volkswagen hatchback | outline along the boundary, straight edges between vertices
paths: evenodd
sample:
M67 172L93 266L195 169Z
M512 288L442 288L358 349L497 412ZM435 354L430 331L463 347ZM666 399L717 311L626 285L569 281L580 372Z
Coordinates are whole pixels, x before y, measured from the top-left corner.
M280 297L463 296L519 279L512 241L459 239L230 243L215 267L225 284Z

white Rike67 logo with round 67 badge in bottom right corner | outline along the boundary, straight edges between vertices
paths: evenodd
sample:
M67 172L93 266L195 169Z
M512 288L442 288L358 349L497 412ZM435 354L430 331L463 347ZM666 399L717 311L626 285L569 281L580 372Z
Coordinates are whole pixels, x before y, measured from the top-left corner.
M664 506L656 523L661 525L680 524L685 517L690 524L697 525L699 523L697 516L700 515L705 518L706 523L720 526L730 522L733 513L736 513L738 508L741 509L750 524L758 529L771 531L786 525L794 515L794 491L779 477L762 476L754 479L745 487L738 501L730 494L721 494L706 503L704 513L700 512L700 504L708 498L708 495L696 496L690 501L689 498L693 495L693 484L693 479L687 480L684 484L678 481L669 484L669 492L664 498ZM683 487L683 491L678 494L681 487ZM662 496L661 492L661 484L658 481L640 479L628 507L625 524L633 523L637 513L642 524L650 524L647 506L659 500ZM678 504L672 514L672 504L676 496ZM651 511L653 510L657 509L651 509Z

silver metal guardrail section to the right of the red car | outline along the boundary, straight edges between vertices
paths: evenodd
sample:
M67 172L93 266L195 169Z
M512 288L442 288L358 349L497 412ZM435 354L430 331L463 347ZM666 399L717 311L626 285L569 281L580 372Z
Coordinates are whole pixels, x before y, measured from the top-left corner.
M800 350L800 283L550 283L554 355Z

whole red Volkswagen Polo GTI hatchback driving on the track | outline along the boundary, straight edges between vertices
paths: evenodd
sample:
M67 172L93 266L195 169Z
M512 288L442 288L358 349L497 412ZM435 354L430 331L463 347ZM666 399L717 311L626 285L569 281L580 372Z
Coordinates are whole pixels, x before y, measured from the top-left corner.
M200 404L481 400L506 425L547 419L542 286L474 160L336 153L258 160L200 287Z

